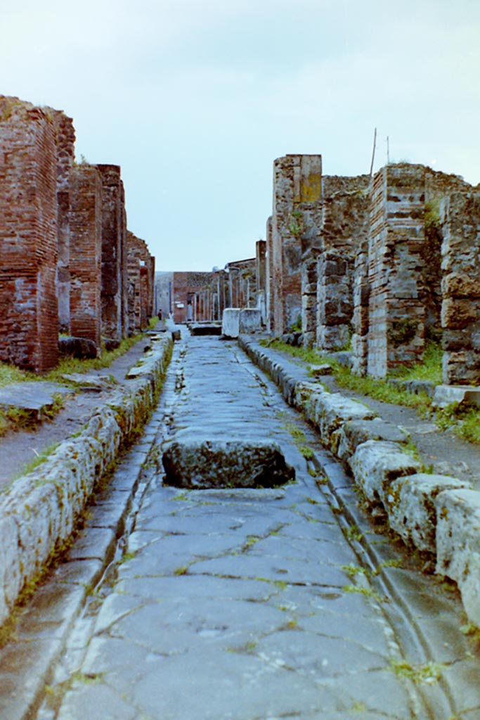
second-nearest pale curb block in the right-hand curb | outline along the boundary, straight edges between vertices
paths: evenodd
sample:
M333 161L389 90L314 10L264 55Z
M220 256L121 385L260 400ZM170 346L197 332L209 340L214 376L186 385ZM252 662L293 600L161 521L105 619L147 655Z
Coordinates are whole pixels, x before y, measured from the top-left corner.
M456 477L419 472L394 480L386 495L389 523L406 543L420 550L436 552L437 509L435 498L444 490L466 488L468 482Z

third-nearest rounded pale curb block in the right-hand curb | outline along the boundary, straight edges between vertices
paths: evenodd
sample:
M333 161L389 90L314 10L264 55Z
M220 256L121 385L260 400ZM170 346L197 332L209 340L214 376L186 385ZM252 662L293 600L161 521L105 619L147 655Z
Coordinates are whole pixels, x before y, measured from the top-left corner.
M359 445L350 459L357 485L371 503L383 505L391 482L397 477L420 472L420 467L420 462L402 452L397 443L378 440L368 440Z

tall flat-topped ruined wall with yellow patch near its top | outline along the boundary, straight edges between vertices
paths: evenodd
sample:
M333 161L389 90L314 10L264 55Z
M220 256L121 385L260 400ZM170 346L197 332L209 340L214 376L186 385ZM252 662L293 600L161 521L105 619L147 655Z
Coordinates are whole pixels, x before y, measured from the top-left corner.
M322 157L287 155L273 163L271 302L273 332L302 317L302 255L320 228Z

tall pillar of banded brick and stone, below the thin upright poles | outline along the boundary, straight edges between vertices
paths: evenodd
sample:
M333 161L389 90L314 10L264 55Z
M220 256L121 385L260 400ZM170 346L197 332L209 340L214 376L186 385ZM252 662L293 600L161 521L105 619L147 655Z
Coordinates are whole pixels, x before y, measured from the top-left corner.
M419 361L424 346L425 167L389 165L373 181L368 235L368 374Z

